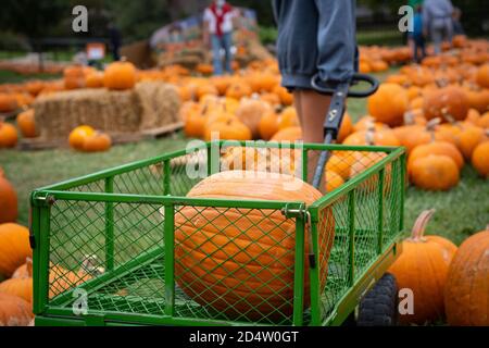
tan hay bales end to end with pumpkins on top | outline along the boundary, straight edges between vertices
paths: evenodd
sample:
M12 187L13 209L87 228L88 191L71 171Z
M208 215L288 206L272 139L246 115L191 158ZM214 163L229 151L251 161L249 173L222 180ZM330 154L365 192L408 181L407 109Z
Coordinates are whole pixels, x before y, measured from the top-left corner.
M78 89L40 97L34 103L40 138L66 138L80 124L110 134L136 133L178 120L179 97L162 83L140 83L135 89Z

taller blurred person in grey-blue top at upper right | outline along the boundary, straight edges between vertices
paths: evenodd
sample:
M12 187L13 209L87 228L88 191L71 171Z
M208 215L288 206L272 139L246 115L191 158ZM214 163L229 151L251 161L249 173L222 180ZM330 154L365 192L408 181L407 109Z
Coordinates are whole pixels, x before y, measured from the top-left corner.
M441 52L443 41L452 41L453 4L450 0L425 0L423 5L423 27L426 37L431 38L435 53Z

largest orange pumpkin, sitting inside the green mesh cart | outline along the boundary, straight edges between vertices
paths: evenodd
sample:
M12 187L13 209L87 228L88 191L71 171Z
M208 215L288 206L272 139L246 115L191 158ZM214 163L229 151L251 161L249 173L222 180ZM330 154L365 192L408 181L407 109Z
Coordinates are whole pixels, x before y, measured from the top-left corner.
M189 198L303 201L321 192L284 174L228 171L212 175ZM334 239L334 217L324 210L318 225L321 288ZM285 319L293 309L296 220L278 210L186 206L175 213L175 278L196 302L243 320ZM309 252L309 244L305 244ZM304 307L310 303L304 265Z

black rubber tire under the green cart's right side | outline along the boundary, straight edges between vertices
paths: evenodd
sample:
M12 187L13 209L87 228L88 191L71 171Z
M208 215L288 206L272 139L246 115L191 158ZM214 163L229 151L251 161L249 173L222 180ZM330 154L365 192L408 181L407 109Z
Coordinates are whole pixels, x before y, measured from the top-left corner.
M398 318L398 284L386 273L360 301L356 325L396 326Z

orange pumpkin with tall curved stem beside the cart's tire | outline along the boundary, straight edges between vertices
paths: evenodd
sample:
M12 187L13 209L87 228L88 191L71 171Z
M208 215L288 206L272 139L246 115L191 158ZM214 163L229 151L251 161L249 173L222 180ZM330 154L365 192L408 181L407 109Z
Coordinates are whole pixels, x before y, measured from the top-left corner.
M402 244L401 256L389 269L398 287L411 289L414 295L414 313L400 315L403 324L422 325L444 314L443 291L456 247L440 236L424 235L434 213L427 210L419 214L411 237Z

